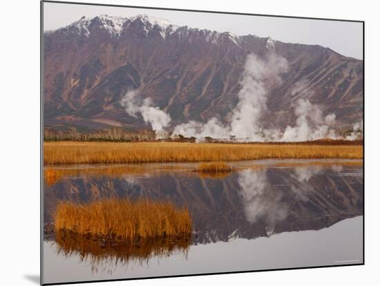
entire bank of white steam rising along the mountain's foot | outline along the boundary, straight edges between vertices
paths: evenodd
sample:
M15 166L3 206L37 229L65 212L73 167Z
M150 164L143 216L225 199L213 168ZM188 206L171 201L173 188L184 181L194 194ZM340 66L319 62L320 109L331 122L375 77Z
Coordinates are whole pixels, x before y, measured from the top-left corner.
M319 140L323 138L343 139L334 131L336 115L323 115L321 108L312 104L308 98L313 93L309 82L298 82L291 92L298 101L292 106L296 115L295 126L287 126L281 131L263 126L263 113L267 110L267 95L270 87L281 84L281 75L288 69L287 60L276 55L275 51L263 57L254 54L248 55L245 61L243 79L238 93L238 104L229 113L227 124L223 124L217 117L211 117L206 123L189 121L174 126L172 137L196 137L201 140L205 137L238 141L256 142L301 142ZM141 114L144 122L151 124L156 138L167 137L165 128L169 126L171 117L158 107L151 106L151 99L144 100L135 97L137 90L131 90L122 99L126 113L133 117ZM354 124L353 131L346 136L347 140L359 139L362 135L363 123Z

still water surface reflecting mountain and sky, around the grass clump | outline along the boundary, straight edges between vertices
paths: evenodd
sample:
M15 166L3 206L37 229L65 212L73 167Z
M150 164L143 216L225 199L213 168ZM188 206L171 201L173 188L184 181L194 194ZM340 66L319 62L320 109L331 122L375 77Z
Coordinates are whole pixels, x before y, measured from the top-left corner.
M363 261L360 161L229 164L234 172L214 178L194 173L197 164L55 167L64 175L45 184L45 222L52 220L59 200L149 198L187 206L193 236L189 245L149 256L144 252L143 258L139 247L128 259L106 251L95 257L96 249L86 254L67 247L62 251L62 245L46 236L44 283Z

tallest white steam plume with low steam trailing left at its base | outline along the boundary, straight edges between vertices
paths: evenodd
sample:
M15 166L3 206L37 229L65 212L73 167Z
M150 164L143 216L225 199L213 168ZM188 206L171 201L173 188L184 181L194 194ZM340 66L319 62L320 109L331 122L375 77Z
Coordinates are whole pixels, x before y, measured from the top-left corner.
M231 121L226 126L216 117L206 124L191 121L175 126L173 135L187 137L229 138L236 136L251 141L263 141L263 126L260 118L267 108L267 88L265 82L278 84L281 73L287 70L287 61L275 53L269 53L265 60L256 55L248 55L245 61L242 88L238 93L238 104L231 112Z

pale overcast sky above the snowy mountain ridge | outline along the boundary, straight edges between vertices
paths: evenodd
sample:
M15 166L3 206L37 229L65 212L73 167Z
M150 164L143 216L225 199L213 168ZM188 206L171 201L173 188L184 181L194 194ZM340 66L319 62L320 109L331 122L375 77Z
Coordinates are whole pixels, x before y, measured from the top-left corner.
M180 26L272 37L289 43L319 44L341 55L357 59L363 57L363 24L356 22L44 3L44 30L61 28L82 16L102 14L122 17L146 14L169 19Z

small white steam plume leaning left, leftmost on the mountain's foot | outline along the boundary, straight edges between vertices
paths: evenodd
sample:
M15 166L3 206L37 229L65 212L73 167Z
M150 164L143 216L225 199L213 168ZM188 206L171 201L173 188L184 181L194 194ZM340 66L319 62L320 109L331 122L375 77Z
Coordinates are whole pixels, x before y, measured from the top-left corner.
M144 100L138 100L135 96L137 90L130 90L122 98L122 106L124 106L126 113L133 117L137 117L137 114L142 115L144 122L151 124L153 131L155 131L156 139L167 137L167 131L165 127L171 122L169 114L160 110L157 106L151 106L151 99L146 98Z

